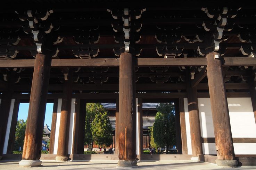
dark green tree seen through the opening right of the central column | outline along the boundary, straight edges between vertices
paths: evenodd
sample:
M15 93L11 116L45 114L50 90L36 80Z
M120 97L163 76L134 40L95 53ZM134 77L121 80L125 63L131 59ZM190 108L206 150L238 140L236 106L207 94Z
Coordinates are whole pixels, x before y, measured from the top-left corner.
M166 147L168 154L169 146L176 143L175 111L173 103L160 103L153 126L154 142L159 147Z

